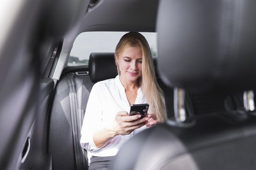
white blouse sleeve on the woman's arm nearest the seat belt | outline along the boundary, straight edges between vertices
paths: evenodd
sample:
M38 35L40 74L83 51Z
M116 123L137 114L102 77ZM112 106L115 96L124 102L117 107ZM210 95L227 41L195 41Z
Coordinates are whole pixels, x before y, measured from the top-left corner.
M90 92L85 116L83 118L80 143L81 146L89 152L100 149L95 146L93 141L94 133L100 130L99 128L101 127L102 104L100 94L100 85L96 83Z

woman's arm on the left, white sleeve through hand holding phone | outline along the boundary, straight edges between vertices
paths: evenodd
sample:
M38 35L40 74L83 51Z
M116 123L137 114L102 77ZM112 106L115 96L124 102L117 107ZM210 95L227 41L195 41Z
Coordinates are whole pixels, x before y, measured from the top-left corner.
M100 85L95 84L88 99L81 130L81 145L88 151L99 150L106 146L115 136L130 134L136 128L146 124L146 118L139 119L139 115L128 116L127 112L118 112L114 113L114 120L111 118L109 121L105 121L103 126L103 108L108 106L106 106L106 101L104 103L101 101L108 98L103 94L106 93L102 92ZM111 114L111 110L109 111L110 113L108 114ZM106 120L108 116L106 116L106 112L104 113L104 120Z

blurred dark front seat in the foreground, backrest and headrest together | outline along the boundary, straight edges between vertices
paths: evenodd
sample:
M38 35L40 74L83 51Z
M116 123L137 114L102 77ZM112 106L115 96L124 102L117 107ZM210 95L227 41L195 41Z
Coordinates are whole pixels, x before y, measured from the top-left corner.
M255 90L255 6L254 0L160 0L157 64L164 83L176 89L176 119L130 139L110 169L256 169L253 107L181 116L184 91Z

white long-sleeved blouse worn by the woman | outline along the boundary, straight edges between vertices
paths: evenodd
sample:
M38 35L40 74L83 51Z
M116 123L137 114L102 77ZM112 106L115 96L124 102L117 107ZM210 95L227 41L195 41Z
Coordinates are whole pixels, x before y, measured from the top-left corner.
M143 95L141 88L139 88L135 104L144 103L147 103L146 97ZM145 125L135 129L129 135L117 135L103 148L97 148L92 139L94 133L111 124L119 111L130 113L130 105L119 76L117 75L115 79L108 79L94 84L85 110L80 140L81 146L88 151L89 161L91 156L107 157L117 155L121 146L128 139L135 133L146 129ZM150 113L150 110L148 110L148 113Z

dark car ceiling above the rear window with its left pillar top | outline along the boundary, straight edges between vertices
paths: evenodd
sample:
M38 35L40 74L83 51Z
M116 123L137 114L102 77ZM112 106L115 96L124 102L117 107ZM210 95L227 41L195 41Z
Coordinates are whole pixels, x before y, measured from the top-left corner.
M155 32L157 7L158 0L98 0L65 35L62 51L85 31Z

